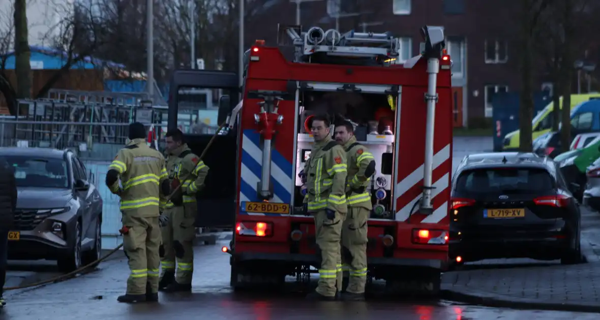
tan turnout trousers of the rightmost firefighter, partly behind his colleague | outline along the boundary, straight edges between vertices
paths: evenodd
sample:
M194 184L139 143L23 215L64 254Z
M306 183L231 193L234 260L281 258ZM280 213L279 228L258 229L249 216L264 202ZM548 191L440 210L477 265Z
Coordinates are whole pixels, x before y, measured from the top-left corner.
M367 283L367 222L370 210L348 207L341 231L342 264L349 271L347 292L362 294Z

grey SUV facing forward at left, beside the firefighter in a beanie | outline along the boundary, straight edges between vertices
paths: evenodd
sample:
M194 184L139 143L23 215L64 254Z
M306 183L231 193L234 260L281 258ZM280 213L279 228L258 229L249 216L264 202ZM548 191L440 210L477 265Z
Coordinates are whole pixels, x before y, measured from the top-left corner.
M0 148L19 191L9 259L49 259L68 272L100 258L102 199L70 150Z

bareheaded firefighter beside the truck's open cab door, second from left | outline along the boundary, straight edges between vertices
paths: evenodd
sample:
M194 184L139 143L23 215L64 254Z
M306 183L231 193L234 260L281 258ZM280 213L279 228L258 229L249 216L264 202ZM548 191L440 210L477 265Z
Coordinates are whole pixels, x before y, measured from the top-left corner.
M204 185L208 166L191 152L179 129L167 132L165 139L166 150L169 153L167 171L170 185L175 189L181 184L181 189L164 204L164 215L169 218L169 223L161 230L164 256L161 259L163 270L160 290L190 291L194 271L196 192Z

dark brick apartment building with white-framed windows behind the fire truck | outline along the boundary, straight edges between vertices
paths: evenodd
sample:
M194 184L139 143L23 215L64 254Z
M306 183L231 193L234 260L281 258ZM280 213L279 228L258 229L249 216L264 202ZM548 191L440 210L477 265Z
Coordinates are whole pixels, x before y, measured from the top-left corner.
M291 0L294 1L294 0ZM402 37L401 59L418 55L419 29L445 27L447 49L454 62L452 90L455 126L491 117L491 96L518 90L520 74L515 52L514 28L518 26L518 0L301 0L301 23L323 29L340 26L340 32L391 31ZM335 19L336 9L341 14ZM260 24L246 27L246 40L276 41L277 23L295 22L296 4L270 0L262 8ZM357 14L359 13L359 14ZM337 20L337 22L336 22ZM265 31L266 30L266 31ZM265 34L272 36L266 37ZM540 86L542 83L536 84Z

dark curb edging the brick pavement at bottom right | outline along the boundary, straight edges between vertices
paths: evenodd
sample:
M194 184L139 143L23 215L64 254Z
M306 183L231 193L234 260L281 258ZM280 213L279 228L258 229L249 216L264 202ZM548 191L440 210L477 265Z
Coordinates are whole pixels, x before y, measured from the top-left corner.
M595 303L565 303L560 301L541 302L537 299L515 299L470 288L442 288L440 295L446 300L486 307L600 313L600 304Z

